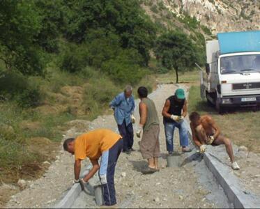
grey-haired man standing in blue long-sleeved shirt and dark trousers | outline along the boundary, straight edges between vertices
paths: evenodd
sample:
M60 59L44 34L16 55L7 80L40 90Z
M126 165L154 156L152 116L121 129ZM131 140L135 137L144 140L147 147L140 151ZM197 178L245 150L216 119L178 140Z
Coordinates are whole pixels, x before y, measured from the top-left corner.
M130 154L133 151L134 130L132 123L135 123L135 117L132 115L135 110L135 99L132 96L132 86L126 86L125 91L119 93L109 107L114 109L114 117L118 125L118 130L123 137L123 152Z

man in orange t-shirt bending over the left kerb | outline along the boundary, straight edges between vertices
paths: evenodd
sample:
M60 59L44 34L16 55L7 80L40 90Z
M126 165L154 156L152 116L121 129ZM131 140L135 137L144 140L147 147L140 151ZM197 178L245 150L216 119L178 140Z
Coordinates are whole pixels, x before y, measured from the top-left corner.
M80 135L76 139L66 139L64 150L75 155L75 183L87 183L99 169L104 205L116 204L116 191L114 188L114 171L118 156L123 149L123 139L119 134L107 129L99 129ZM92 169L84 178L79 180L81 161L89 157L93 164ZM101 157L100 165L98 159Z

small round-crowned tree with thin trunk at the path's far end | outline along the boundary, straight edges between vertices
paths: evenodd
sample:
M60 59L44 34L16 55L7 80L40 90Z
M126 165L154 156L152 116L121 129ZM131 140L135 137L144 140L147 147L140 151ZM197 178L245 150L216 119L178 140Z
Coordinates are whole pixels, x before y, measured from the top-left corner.
M165 68L176 72L176 83L178 83L178 72L193 68L199 60L198 48L185 34L178 31L169 31L162 34L155 48L155 55L161 60Z

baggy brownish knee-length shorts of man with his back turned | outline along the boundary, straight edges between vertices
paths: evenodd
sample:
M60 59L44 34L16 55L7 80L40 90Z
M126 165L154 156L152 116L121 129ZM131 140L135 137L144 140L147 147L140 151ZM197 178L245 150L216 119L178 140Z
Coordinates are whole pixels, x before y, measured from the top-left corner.
M140 151L144 159L160 157L159 125L152 125L146 130L140 142Z

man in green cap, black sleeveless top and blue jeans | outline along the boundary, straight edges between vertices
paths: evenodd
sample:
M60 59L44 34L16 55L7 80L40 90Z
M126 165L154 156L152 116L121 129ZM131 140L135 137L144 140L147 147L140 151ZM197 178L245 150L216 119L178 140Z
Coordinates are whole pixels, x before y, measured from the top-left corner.
M165 125L166 147L169 155L174 152L174 130L178 127L180 144L183 152L190 152L188 125L183 120L187 115L187 100L182 88L178 88L175 94L165 101L162 109L163 124Z

